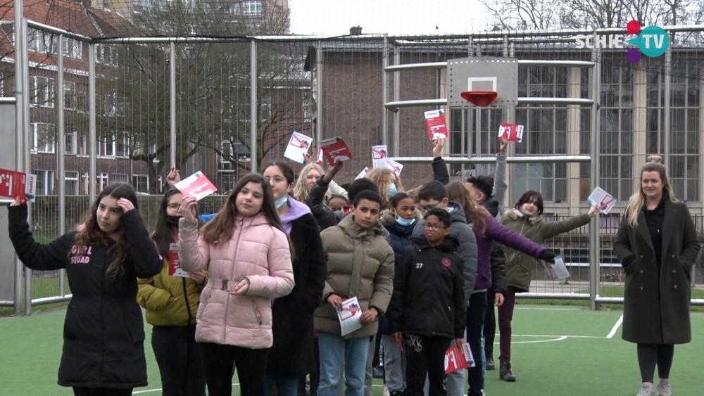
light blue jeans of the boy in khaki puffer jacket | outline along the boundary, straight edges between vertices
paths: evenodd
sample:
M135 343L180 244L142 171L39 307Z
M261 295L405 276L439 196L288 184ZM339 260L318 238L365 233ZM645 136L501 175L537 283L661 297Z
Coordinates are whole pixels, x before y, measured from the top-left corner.
M369 337L344 339L332 333L318 332L320 348L320 385L318 396L336 396L340 382L340 364L344 350L345 396L363 396L367 372Z

